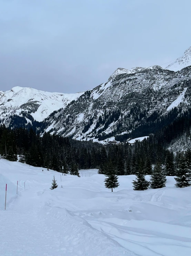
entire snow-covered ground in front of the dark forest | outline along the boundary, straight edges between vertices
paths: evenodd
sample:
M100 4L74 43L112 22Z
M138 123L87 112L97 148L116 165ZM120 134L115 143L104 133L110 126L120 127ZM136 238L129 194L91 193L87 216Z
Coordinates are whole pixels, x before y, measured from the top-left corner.
M53 175L59 187L51 190ZM112 193L97 170L80 175L61 181L55 171L0 160L1 256L191 255L191 187L168 177L165 188L133 191L129 175Z

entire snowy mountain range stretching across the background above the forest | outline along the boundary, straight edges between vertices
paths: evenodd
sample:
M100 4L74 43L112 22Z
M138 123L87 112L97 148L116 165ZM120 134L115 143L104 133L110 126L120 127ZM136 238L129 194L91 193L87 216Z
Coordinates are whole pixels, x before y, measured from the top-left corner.
M61 94L22 87L0 91L0 122L10 127L30 123L41 133L103 142L124 134L131 138L140 127L137 137L147 136L148 122L160 121L174 107L190 105L191 47L165 69L118 68L107 82L85 92Z

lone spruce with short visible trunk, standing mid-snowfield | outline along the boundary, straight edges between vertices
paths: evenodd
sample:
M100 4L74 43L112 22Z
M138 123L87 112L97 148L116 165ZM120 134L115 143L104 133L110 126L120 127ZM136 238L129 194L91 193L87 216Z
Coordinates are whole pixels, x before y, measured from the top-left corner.
M116 175L115 169L113 167L112 162L109 162L107 164L107 174L105 176L107 177L104 182L105 182L105 187L110 188L111 192L113 192L113 188L116 188L119 186L118 182L118 176Z

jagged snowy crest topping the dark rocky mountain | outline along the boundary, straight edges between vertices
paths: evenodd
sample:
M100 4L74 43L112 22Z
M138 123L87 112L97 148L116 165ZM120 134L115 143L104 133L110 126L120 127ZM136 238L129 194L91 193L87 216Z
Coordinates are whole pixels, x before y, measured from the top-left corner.
M132 68L130 70L124 69L124 68L117 68L113 72L113 74L109 77L108 81L117 77L120 74L134 74L134 73L137 73L137 72L142 72L142 71L147 70L147 69L163 69L163 68L161 68L159 65L154 65L154 66L150 66L150 67L135 67L135 68Z

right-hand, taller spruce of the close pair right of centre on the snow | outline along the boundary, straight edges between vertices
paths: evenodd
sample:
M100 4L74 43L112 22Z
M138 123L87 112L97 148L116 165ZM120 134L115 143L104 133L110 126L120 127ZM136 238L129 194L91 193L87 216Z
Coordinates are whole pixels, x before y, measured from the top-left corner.
M163 172L160 162L157 162L154 166L153 174L151 175L150 188L162 188L165 187L167 179Z

